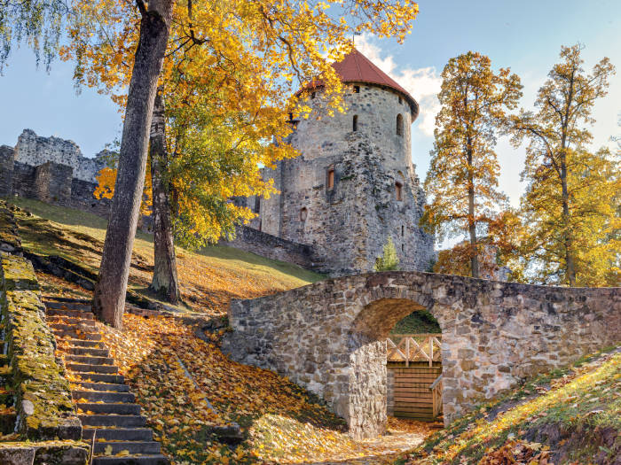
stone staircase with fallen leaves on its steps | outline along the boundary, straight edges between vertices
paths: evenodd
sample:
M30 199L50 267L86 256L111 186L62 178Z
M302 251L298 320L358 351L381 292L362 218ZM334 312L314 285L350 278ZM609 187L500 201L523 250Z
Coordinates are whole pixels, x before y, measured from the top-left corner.
M130 386L101 342L90 302L47 298L43 303L67 371L75 378L72 383L80 386L72 395L81 409L83 438L95 437L92 464L168 465ZM127 452L116 455L122 451Z

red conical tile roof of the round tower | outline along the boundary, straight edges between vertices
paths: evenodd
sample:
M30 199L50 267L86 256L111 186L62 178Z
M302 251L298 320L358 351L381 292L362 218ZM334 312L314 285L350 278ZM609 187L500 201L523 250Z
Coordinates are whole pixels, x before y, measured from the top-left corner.
M381 71L379 67L373 65L373 62L358 50L352 50L342 61L333 63L332 66L343 82L365 82L397 90L410 104L413 120L418 116L419 105L408 91L397 84L388 74ZM315 81L311 83L309 88L320 87L321 85L321 81Z

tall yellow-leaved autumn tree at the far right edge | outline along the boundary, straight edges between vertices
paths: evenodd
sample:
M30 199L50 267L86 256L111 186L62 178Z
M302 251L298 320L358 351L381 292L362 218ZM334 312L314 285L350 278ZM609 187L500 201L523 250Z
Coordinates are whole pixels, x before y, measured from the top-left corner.
M603 58L586 74L581 50L562 47L561 63L538 90L537 111L513 120L515 145L528 141L522 174L527 250L538 282L618 285L621 243L610 236L619 225L618 153L589 150L587 129L615 70Z

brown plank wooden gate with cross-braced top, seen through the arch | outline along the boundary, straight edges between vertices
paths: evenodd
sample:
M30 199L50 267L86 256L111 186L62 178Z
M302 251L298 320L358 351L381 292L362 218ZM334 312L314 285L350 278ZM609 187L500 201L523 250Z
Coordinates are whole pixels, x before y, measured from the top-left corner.
M431 422L441 414L441 337L417 334L387 338L389 415Z

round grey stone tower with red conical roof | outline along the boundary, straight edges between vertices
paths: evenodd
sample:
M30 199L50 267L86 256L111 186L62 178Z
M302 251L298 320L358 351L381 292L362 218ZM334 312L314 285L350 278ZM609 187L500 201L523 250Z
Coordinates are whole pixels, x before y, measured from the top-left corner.
M347 112L291 121L289 143L301 156L264 170L280 194L255 200L255 227L312 245L318 268L333 275L373 270L389 237L402 269L424 271L434 251L419 226L425 195L411 157L418 104L358 50L334 69ZM320 112L322 89L310 90Z

